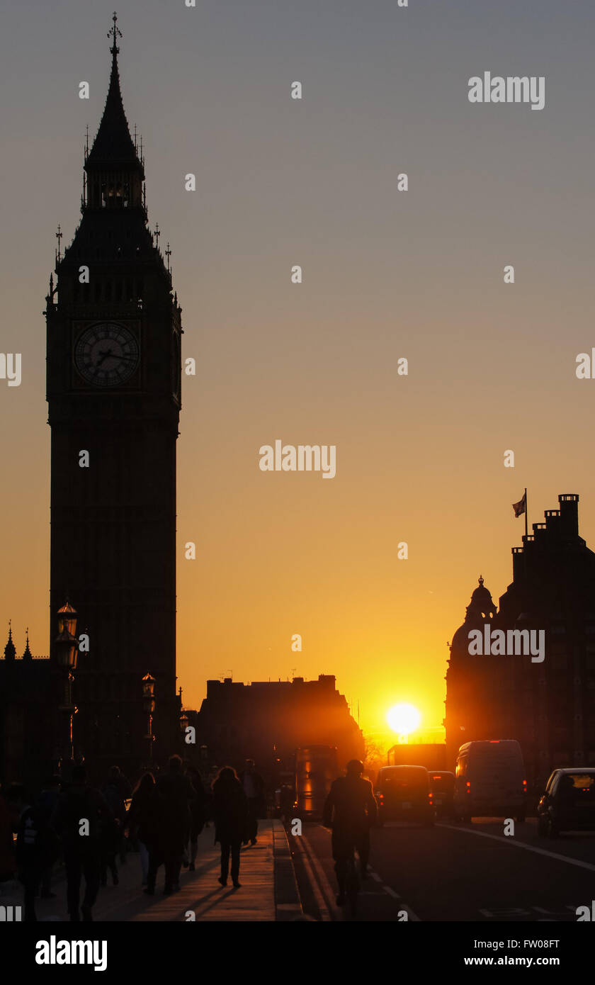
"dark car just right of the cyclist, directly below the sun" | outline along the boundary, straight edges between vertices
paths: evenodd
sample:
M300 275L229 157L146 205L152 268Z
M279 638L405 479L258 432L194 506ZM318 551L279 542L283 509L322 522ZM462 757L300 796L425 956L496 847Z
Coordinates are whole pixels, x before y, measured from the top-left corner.
M382 766L374 792L379 827L384 821L433 824L430 776L425 766Z

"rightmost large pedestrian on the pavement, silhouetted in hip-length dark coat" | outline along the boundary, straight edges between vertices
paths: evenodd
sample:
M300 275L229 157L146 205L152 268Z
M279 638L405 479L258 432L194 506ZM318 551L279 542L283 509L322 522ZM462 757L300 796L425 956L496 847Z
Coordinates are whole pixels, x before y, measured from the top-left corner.
M224 766L213 783L213 814L215 817L215 843L221 844L222 886L228 885L231 855L231 882L239 883L239 850L248 823L248 802L242 785L231 766Z

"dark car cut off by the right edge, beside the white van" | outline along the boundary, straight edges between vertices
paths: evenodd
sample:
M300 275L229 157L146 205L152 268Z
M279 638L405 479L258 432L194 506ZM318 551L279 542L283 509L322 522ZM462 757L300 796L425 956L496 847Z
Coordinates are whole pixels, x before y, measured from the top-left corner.
M537 805L537 831L557 837L561 831L595 830L595 768L555 769Z

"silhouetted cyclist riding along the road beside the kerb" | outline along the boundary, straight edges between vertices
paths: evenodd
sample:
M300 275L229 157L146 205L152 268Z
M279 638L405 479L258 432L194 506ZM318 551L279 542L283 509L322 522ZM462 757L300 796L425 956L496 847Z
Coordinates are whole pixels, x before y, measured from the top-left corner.
M333 781L324 804L322 823L333 831L332 849L339 884L337 906L345 903L347 863L354 848L360 856L362 877L369 858L369 828L376 821L378 809L369 780L364 780L364 763L350 759L346 776Z

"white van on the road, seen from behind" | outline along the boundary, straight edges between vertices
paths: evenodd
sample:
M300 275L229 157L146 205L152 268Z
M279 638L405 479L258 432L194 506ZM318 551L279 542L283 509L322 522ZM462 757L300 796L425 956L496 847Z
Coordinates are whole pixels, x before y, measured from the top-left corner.
M461 746L456 760L454 813L476 818L525 820L527 781L516 739L487 739Z

